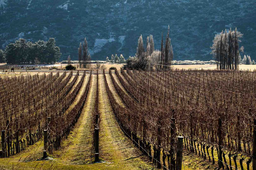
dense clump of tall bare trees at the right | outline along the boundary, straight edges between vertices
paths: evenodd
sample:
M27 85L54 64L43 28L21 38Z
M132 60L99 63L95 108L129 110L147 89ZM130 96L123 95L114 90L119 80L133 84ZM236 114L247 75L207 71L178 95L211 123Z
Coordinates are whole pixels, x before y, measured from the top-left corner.
M215 35L212 44L212 54L217 64L218 69L237 70L240 64L240 52L243 52L243 47L239 49L240 38L243 34L235 30L221 32Z

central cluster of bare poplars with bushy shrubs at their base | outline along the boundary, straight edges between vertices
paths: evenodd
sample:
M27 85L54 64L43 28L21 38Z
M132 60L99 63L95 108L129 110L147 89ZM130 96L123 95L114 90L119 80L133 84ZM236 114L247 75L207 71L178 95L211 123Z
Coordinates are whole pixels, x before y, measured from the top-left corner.
M147 37L146 51L143 45L142 35L138 39L137 52L134 57L129 57L124 68L136 70L169 70L173 60L173 49L170 38L170 27L168 25L168 32L165 37L162 33L161 49L160 51L154 48L154 39L150 35Z

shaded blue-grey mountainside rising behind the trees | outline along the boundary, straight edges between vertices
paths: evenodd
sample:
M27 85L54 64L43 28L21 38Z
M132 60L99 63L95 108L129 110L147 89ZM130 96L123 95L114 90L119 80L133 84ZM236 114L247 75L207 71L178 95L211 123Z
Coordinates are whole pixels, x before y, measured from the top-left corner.
M0 0L0 48L17 38L56 38L62 58L77 59L86 37L92 59L136 52L142 34L152 34L160 48L170 25L174 59L211 59L215 33L235 29L244 34L245 54L256 59L254 0ZM146 43L146 42L145 42Z

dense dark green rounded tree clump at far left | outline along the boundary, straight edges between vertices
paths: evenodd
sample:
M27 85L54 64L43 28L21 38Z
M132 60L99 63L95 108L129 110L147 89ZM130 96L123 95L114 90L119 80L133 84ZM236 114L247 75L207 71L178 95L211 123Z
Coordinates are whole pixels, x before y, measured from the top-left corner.
M54 38L35 43L20 38L6 46L2 60L7 64L52 64L60 59L61 54Z

